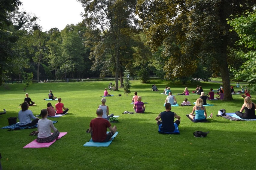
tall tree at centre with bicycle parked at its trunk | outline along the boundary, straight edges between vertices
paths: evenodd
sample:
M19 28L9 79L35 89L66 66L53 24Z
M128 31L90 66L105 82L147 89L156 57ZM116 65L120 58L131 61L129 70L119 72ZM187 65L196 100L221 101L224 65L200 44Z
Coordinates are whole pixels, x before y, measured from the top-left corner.
M136 0L77 0L84 7L84 23L87 28L101 33L102 42L108 49L115 66L115 86L118 90L118 76L122 78L120 46L125 41L122 31L133 29L137 23L134 16ZM97 45L96 47L100 47ZM102 49L102 48L101 48ZM102 49L104 51L104 49ZM121 80L122 83L122 80ZM122 84L121 84L122 85Z

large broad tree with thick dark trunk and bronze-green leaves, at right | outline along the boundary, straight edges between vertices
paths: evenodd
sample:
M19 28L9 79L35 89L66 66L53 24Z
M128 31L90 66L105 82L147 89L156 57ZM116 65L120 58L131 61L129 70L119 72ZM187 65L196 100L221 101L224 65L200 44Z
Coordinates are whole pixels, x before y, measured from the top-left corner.
M197 64L221 73L224 100L232 100L228 47L236 34L229 32L227 18L253 9L255 0L139 0L138 15L151 47L165 46L166 75L192 75ZM176 50L174 50L176 49ZM210 63L214 63L210 65ZM169 69L171 68L171 69Z

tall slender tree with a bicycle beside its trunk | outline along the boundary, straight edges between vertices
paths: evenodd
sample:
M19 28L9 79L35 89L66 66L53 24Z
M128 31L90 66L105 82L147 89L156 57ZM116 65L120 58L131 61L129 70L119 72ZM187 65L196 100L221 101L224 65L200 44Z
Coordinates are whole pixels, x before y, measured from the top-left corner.
M118 76L122 86L122 57L121 48L129 42L130 35L136 32L137 19L134 16L136 0L78 0L84 7L84 24L91 28L95 42L91 58L94 63L111 66L114 64L115 88L118 90ZM95 35L96 33L96 35ZM128 34L127 34L128 33ZM128 36L127 36L128 35ZM128 41L127 41L128 40ZM102 48L103 47L103 48ZM111 69L111 67L108 67ZM106 70L106 69L105 69Z

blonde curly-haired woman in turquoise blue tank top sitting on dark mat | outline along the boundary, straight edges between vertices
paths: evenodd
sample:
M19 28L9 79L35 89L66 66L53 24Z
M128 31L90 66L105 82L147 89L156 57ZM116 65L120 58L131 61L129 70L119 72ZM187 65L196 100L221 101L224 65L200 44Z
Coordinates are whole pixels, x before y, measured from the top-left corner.
M194 116L193 114L196 114ZM195 106L193 107L192 113L189 114L189 117L193 119L194 122L205 122L207 113L206 109L203 106L203 100L201 98L198 98L196 101Z

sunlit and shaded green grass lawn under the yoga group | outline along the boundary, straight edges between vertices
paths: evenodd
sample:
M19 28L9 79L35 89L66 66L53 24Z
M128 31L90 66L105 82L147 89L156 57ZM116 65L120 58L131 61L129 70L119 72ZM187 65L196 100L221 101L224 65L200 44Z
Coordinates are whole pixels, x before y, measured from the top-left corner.
M157 115L164 111L166 96L161 95L164 87L171 87L173 94L181 93L187 86L193 91L196 85L203 87L206 93L210 88L218 89L218 83L194 82L182 85L168 81L151 81L141 84L131 81L131 94L126 97L123 89L109 92L114 97L107 97L106 105L109 113L119 115L117 137L108 147L84 147L90 140L86 133L90 120L96 117L96 109L101 104L101 96L109 82L73 82L73 83L38 83L27 87L26 92L37 106L29 107L34 115L47 107L47 98L51 89L55 97L61 97L62 103L69 108L69 114L59 118L54 126L60 132L68 132L49 148L23 147L36 139L29 136L33 130L0 129L0 152L3 169L254 169L255 159L255 128L256 121L230 121L216 117L219 109L227 113L240 110L243 98L233 95L233 101L208 101L214 106L206 107L207 114L214 116L210 123L193 123L187 117L193 106L172 107L172 111L181 116L179 135L164 135L157 132L155 121ZM152 84L160 90L151 91ZM235 84L231 84L235 85ZM7 84L9 89L0 87L1 108L7 113L1 115L1 127L8 125L8 117L18 115L19 104L24 101L24 84ZM238 89L235 88L235 91ZM133 111L130 104L134 91L142 96L145 114L122 114ZM122 94L121 97L116 95ZM185 96L175 96L180 104ZM186 96L194 102L199 95ZM252 96L254 97L254 96ZM252 98L255 102L255 98ZM51 101L56 104L56 101ZM17 119L17 121L19 121ZM206 138L195 138L194 131L210 131Z

